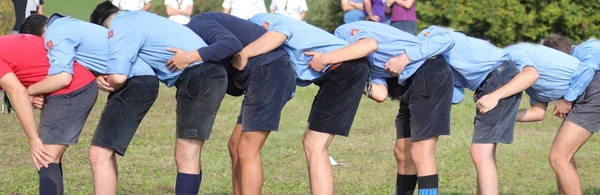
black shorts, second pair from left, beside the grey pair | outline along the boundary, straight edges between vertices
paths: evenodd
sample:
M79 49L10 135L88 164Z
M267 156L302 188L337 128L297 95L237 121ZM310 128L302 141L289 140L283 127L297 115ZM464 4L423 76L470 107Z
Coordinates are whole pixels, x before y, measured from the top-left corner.
M156 76L134 76L123 87L108 95L91 145L111 148L121 156L140 122L158 96Z

